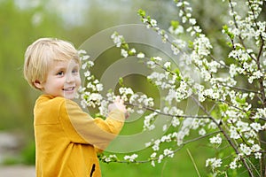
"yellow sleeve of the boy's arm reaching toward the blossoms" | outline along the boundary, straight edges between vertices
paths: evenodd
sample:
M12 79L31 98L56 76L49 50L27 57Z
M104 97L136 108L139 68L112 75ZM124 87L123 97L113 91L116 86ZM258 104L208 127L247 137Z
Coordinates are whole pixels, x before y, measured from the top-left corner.
M119 110L110 112L106 120L92 119L71 100L66 100L60 110L62 126L70 141L90 143L99 150L105 150L120 133L125 119L124 113Z

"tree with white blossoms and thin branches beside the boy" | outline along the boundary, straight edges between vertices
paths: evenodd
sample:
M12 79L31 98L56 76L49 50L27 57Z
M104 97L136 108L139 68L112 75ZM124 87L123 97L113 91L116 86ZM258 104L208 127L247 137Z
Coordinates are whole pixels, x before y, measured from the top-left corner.
M155 31L161 42L169 44L176 58L147 56L145 51L130 47L122 34L114 32L111 36L123 58L136 57L151 69L147 79L161 90L160 108L154 104L156 98L134 93L124 86L122 79L119 95L129 112L142 114L143 131L160 128L163 134L155 138L149 136L149 141L145 139L145 148L152 151L148 158L131 150L123 158L118 153L106 153L101 160L107 163L149 162L155 166L164 158L174 157L185 144L208 138L215 149L221 146L228 149L227 154L217 153L206 159L210 173L227 176L230 171L241 168L249 176L265 176L266 21L261 13L266 1L241 2L241 12L236 10L239 1L227 1L230 20L221 31L221 36L227 40L227 58L214 55L215 46L193 18L190 3L174 2L179 20L171 21L168 31L161 29L145 11L139 10L138 15L146 30ZM105 116L106 105L117 94L114 91L102 93L103 84L88 70L93 62L83 50L81 54L82 69L86 70L86 87L80 90L81 104L98 107L99 114ZM178 60L176 64L175 60ZM180 103L197 107L197 112L187 112L178 106ZM160 116L165 119L162 125L156 122Z

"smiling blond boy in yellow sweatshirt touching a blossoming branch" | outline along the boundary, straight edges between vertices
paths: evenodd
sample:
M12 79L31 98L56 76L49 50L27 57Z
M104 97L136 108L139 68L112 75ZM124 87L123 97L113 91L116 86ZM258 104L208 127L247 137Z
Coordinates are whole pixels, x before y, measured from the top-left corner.
M118 98L108 106L106 120L92 119L74 103L81 85L80 58L74 46L41 38L25 53L24 76L43 92L35 102L36 176L101 176L97 151L119 134L125 114Z

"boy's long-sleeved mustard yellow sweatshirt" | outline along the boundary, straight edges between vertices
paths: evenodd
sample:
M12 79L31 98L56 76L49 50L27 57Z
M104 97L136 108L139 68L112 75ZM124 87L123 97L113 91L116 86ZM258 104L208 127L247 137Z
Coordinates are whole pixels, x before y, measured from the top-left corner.
M43 95L35 103L36 177L101 176L97 149L105 150L121 131L124 114L92 119L63 97Z

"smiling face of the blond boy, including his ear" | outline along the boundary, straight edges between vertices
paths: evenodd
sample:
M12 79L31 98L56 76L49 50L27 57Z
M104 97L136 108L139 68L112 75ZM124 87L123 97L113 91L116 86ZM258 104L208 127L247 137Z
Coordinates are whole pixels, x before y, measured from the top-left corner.
M77 89L81 86L79 69L79 65L73 59L53 62L46 81L40 84L43 93L74 99Z

